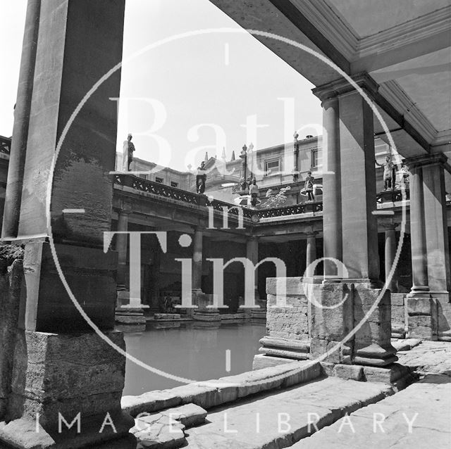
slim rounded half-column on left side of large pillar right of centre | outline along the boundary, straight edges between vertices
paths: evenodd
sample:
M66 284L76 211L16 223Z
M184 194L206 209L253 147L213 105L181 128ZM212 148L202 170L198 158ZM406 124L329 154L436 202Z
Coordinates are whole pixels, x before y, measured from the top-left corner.
M323 253L342 260L340 110L337 97L326 96L323 106ZM335 263L324 261L324 274L337 274Z

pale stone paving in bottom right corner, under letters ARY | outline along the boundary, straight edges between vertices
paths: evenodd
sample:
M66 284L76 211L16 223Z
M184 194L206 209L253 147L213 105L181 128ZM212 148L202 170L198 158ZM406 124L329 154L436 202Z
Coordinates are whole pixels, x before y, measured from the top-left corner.
M451 379L428 374L394 396L357 410L291 447L451 448L450 422Z

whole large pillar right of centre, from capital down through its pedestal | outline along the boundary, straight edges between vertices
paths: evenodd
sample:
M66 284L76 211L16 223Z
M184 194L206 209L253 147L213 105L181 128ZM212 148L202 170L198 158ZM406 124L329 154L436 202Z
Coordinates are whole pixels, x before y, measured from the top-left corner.
M354 82L373 99L378 85L366 73ZM325 263L325 274L338 274L343 285L310 284L307 294L319 306L311 307L311 355L331 347L332 363L390 366L397 360L391 346L390 292L381 295L376 216L373 111L364 97L346 80L313 90L323 104L325 156L323 177L324 256L341 261L338 272ZM378 305L373 310L375 301ZM370 313L370 311L372 312ZM352 338L347 332L359 327Z

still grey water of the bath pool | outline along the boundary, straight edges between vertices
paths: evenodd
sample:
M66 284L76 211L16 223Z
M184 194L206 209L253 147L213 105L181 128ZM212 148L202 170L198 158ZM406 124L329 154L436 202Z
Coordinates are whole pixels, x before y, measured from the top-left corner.
M124 334L127 352L152 367L197 381L250 371L260 347L259 339L265 334L263 323L212 326L190 322L177 323L178 327L161 324L148 324L142 333ZM226 372L227 349L230 349L230 372ZM123 395L180 385L127 360Z

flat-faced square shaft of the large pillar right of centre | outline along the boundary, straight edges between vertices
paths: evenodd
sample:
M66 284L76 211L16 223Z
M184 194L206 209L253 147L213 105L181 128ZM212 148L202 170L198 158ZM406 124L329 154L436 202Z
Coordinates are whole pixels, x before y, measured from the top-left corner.
M357 91L343 94L339 103L342 261L350 278L368 279L377 284L379 255L377 219L373 215L376 210L373 111Z

